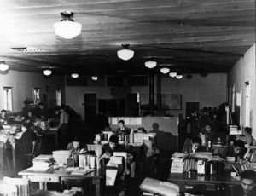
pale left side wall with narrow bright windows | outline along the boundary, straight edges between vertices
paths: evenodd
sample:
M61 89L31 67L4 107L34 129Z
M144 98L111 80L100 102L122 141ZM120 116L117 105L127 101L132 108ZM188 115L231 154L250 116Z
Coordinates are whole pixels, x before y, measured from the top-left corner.
M19 72L9 70L8 72L0 72L0 89L3 87L12 87L13 112L22 111L26 98L32 98L32 88L41 88L42 93L46 92L46 86L49 85L48 107L55 106L55 89L62 89L62 97L65 95L65 80L61 76L44 77L43 73L35 72ZM65 100L64 100L65 101ZM3 108L3 95L1 91L0 108Z

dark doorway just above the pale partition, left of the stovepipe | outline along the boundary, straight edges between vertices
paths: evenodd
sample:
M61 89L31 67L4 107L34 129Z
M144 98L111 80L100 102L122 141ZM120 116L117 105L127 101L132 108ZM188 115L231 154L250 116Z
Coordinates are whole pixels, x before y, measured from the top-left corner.
M139 115L139 100L137 93L127 93L125 101L125 115L127 117L137 117Z

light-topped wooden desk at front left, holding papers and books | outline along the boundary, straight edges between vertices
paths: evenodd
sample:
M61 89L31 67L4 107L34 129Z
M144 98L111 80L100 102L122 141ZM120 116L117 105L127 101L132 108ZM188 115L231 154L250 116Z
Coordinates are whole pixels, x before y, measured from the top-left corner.
M102 182L105 178L104 170L96 170L86 175L71 175L71 171L64 169L53 170L49 169L46 171L26 170L20 171L18 174L23 178L29 179L31 182L39 182L40 190L47 189L47 182L59 182L61 183L61 177L73 177L73 178L87 178L91 179L96 184L96 196L101 195ZM45 183L46 182L46 183ZM45 186L44 186L45 185Z

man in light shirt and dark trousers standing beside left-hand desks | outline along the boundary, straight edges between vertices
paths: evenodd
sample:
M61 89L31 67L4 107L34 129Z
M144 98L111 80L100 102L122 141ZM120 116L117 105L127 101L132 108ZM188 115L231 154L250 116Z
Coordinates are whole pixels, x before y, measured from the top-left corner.
M66 107L61 106L60 108L61 116L60 116L60 147L65 149L68 143L68 122L69 122L69 114L66 112Z

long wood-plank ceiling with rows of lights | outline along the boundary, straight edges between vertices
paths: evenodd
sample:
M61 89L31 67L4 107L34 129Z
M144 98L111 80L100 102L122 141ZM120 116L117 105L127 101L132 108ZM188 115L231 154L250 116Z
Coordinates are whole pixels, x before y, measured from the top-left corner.
M255 43L254 0L0 0L0 60L9 68L55 74L229 72ZM61 12L73 11L78 37L55 35ZM135 56L116 52L129 43ZM35 47L39 52L11 48ZM149 70L148 58L158 62Z

